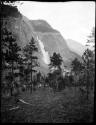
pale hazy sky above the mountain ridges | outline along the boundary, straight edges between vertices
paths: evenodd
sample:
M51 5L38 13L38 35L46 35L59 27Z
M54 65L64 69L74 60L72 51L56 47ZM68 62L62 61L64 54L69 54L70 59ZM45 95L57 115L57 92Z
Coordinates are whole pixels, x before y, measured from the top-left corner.
M28 2L18 7L29 19L44 19L65 39L85 45L87 36L95 26L95 2Z

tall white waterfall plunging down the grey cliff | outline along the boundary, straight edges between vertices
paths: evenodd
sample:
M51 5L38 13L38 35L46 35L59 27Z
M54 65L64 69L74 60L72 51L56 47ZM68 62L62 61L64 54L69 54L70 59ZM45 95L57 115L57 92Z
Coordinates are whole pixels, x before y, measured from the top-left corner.
M43 42L38 38L37 36L37 41L39 42L42 54L43 54L43 61L48 65L50 63L50 57L47 51L44 49L44 44Z

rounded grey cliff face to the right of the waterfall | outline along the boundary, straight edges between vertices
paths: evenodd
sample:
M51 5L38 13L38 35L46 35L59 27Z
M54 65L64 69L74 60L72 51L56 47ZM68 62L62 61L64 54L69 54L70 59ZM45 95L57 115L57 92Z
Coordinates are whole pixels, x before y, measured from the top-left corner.
M60 53L64 60L64 64L69 66L70 62L75 58L80 56L72 52L66 40L62 37L59 31L53 29L47 22L44 20L31 21L34 33L39 37L43 42L45 51L48 51L49 55L52 56L53 52ZM41 30L40 30L41 29Z

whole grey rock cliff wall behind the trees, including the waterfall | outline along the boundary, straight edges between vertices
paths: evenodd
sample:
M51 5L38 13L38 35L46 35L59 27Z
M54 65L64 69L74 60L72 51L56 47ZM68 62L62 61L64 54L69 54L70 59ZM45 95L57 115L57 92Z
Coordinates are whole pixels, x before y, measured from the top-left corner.
M17 15L15 13L15 16L13 15L5 16L3 18L3 24L7 26L8 30L13 32L18 45L21 47L26 45L32 36L37 40L38 53L36 55L40 63L38 70L41 72L48 72L48 65L44 61L44 58L52 56L53 52L60 53L65 65L69 65L70 61L75 57L80 58L76 53L71 52L60 32L53 29L46 21L29 20L20 13L19 15L18 13Z

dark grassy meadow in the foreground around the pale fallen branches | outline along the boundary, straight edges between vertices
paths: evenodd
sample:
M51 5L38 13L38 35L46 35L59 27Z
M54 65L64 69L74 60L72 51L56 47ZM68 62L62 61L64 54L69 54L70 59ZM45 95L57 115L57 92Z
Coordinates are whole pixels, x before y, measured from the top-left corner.
M14 98L4 100L1 103L2 122L11 123L74 123L92 122L94 100L90 95L90 100L80 99L79 90L74 87L65 88L62 92L54 93L49 88L39 88L32 94L22 92L19 98L31 103L27 105L18 102L19 109L9 111L14 104Z

